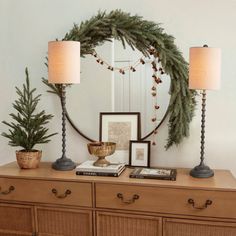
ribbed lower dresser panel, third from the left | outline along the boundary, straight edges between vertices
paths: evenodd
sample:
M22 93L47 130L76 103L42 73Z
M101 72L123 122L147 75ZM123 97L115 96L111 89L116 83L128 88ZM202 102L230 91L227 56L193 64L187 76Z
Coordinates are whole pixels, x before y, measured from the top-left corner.
M159 217L97 212L97 236L161 236Z

